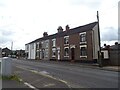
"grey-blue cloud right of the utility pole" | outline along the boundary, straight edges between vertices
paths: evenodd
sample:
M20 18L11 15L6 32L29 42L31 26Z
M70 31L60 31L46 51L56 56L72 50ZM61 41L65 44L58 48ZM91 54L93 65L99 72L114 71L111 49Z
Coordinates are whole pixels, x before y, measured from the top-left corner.
M118 30L114 27L107 27L104 29L104 32L101 32L102 41L113 41L118 40Z

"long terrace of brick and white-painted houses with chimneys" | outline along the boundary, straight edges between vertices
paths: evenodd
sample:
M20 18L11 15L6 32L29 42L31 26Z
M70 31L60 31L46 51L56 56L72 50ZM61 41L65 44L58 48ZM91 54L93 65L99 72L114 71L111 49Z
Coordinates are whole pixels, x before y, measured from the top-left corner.
M61 26L58 32L25 44L27 59L38 60L84 60L98 59L99 33L98 22L65 30Z

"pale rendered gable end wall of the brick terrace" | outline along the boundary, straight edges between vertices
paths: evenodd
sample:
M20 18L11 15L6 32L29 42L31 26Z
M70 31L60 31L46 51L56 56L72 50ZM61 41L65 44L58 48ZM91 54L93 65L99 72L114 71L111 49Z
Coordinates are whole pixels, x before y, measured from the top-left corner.
M98 51L99 51L99 37L98 37L98 24L93 28L92 32L93 39L93 59L98 59Z

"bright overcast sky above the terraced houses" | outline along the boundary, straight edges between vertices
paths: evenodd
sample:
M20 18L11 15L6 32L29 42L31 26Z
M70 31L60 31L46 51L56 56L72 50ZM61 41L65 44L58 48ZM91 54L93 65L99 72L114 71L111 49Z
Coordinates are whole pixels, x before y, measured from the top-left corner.
M57 32L97 21L100 15L101 44L118 39L119 0L0 0L0 47L25 49L25 44Z

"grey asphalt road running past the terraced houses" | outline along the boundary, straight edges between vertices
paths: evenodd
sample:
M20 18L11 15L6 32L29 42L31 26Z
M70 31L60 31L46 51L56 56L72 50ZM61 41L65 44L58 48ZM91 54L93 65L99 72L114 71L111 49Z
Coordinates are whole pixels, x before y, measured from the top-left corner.
M72 88L117 88L118 72L78 67L53 61L13 60L13 65L37 72L46 72L64 80Z

